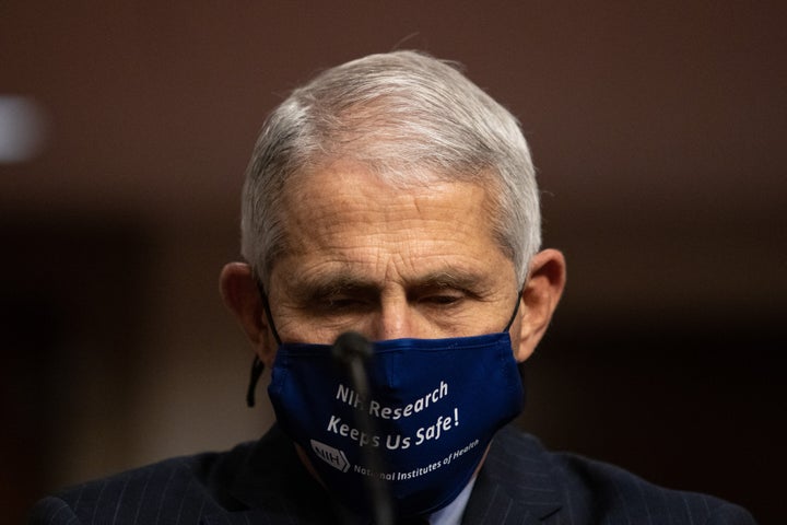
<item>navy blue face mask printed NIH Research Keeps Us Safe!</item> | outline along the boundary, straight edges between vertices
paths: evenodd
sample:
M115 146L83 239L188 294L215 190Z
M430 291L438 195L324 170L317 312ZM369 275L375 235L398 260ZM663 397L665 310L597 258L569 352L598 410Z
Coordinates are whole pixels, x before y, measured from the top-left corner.
M363 399L330 346L283 343L268 388L281 428L333 497L361 514L371 513L368 478L387 482L398 515L447 505L472 478L495 432L522 409L507 328L376 342L366 369ZM359 424L364 413L372 432ZM379 463L369 463L368 447L378 451Z

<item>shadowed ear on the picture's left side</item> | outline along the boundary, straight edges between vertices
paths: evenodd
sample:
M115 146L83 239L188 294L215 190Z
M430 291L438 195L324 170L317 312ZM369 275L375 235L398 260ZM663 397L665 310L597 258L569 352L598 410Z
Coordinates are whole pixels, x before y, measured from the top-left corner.
M230 262L219 278L224 304L235 314L260 361L271 368L277 345L268 327L262 299L249 265Z

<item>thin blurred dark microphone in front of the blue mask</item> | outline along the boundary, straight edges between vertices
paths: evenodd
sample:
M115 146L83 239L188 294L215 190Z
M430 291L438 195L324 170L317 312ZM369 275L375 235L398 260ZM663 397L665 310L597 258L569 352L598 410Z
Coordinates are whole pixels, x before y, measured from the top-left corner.
M353 389L361 399L368 401L368 375L365 365L374 357L369 340L355 331L345 331L333 342L331 355L338 364L344 366ZM355 424L366 435L376 435L374 421L366 410L355 411ZM377 474L385 471L383 455L377 447L362 446L361 454L369 470ZM393 505L388 483L380 476L364 476L364 479L375 525L393 525Z

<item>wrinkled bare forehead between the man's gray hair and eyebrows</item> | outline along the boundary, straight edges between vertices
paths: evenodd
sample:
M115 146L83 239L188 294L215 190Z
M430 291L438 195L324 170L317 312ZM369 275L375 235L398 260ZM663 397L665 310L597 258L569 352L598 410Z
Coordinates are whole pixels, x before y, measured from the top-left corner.
M282 202L286 248L274 270L352 268L403 279L510 262L493 235L491 199L481 184L432 177L395 185L349 162L291 184Z

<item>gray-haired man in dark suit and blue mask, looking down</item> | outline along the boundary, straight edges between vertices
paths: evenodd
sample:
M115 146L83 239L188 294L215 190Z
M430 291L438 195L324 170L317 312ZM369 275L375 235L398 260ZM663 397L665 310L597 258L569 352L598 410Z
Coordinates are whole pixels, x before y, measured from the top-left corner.
M540 249L516 119L410 51L339 66L267 120L226 305L277 424L42 501L36 523L753 523L508 425L565 261ZM373 341L373 342L369 342ZM426 522L423 522L426 523Z

